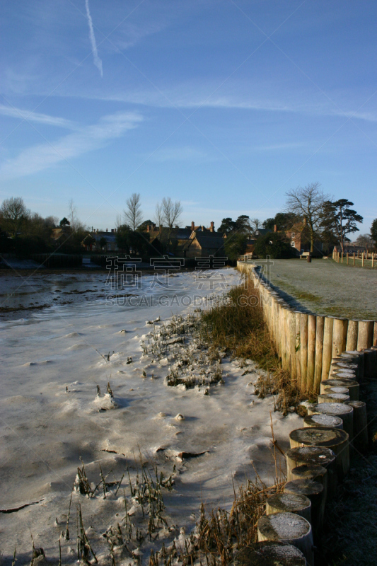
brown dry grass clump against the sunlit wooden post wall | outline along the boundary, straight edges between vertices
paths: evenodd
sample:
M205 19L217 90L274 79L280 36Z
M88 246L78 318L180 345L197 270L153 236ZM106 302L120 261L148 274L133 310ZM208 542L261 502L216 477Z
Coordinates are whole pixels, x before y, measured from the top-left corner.
M210 335L214 347L229 352L231 357L253 359L265 370L255 393L261 398L276 395L276 410L286 415L303 400L296 381L289 371L282 369L263 318L259 293L251 279L245 279L244 286L232 289L227 301L202 313L202 323L202 333Z

